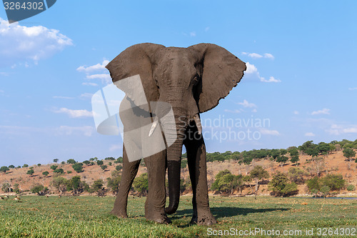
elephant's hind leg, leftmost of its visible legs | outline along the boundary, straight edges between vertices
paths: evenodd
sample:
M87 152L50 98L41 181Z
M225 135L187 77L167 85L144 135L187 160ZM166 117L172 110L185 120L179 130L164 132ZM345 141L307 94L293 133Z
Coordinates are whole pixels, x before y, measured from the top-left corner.
M129 162L125 148L123 148L123 172L121 174L119 191L118 194L116 194L114 208L111 210L111 214L116 215L116 217L128 217L126 213L128 195L131 184L133 184L136 174L138 173L139 165L140 160Z

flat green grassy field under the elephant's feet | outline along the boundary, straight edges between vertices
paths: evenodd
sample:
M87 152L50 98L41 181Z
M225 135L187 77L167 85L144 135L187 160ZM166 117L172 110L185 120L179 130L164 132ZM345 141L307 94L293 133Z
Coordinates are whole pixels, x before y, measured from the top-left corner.
M283 230L301 230L302 235L286 237L328 237L318 236L318 228L332 227L333 232L357 228L357 200L351 199L211 197L211 211L218 224L198 227L188 225L192 209L191 197L186 196L181 197L178 212L170 216L170 225L146 222L144 197L129 197L129 219L109 214L114 197L31 196L22 197L21 202L13 198L0 201L0 237L214 237L213 232L231 228L234 232L274 229L281 234ZM306 236L306 229L313 229L313 235ZM283 237L262 236L261 232L245 237ZM356 237L357 231L354 234L349 237Z

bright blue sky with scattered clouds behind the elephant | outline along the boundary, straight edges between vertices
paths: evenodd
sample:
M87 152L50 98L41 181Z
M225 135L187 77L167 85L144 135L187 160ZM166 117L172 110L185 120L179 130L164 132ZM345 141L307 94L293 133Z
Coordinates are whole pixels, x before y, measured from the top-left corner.
M91 95L110 83L106 62L142 42L213 43L248 62L201 115L208 152L355 140L356 12L356 1L62 0L9 25L1 7L0 164L121 156L120 137L96 132ZM225 139L224 120L251 119L266 123Z

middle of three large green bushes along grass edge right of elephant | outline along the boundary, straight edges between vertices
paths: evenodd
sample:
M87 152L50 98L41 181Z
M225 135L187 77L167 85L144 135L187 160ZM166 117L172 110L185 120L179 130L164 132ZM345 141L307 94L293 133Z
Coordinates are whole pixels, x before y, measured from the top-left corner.
M268 188L276 196L289 197L293 194L298 194L298 185L294 182L289 183L288 177L281 172L273 176L271 182L268 183Z

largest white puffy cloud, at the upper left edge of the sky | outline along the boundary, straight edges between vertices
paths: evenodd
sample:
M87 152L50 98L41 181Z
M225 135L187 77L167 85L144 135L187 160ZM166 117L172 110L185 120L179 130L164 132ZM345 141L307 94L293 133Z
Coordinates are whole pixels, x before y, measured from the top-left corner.
M46 59L71 46L72 40L59 30L44 26L9 24L0 18L0 66L15 66L22 61ZM25 66L28 65L27 62Z

